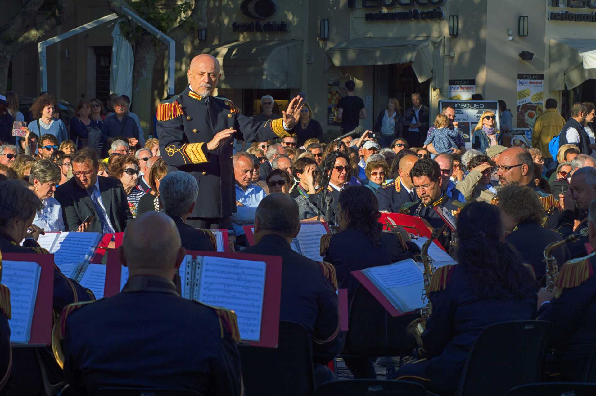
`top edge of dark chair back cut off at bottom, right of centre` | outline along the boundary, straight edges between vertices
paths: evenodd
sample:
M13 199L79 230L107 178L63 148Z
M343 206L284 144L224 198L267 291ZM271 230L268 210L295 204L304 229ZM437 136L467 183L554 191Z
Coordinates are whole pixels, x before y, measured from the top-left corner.
M316 388L315 396L427 396L424 386L409 381L354 379L333 381Z

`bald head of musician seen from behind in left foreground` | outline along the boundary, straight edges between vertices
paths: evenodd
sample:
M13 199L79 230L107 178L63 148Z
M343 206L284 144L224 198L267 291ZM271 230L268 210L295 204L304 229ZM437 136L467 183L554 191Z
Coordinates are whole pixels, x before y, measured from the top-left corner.
M181 247L176 224L163 213L150 211L126 227L118 249L130 276L154 275L172 279L186 251Z

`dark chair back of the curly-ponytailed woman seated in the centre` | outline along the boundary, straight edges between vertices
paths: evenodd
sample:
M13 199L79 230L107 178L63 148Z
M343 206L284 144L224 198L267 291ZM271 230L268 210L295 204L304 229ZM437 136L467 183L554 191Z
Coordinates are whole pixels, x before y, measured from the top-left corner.
M406 327L418 317L419 312L391 316L364 286L359 285L350 303L349 330L343 354L373 357L385 356L386 353L387 356L411 355L416 341L406 334Z

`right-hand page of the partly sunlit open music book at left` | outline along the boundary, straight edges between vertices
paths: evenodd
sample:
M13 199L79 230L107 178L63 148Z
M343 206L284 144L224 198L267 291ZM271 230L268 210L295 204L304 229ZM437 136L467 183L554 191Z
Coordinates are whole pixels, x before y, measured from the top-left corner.
M91 260L101 236L98 232L61 232L50 253L54 254L58 267L61 264L85 264Z

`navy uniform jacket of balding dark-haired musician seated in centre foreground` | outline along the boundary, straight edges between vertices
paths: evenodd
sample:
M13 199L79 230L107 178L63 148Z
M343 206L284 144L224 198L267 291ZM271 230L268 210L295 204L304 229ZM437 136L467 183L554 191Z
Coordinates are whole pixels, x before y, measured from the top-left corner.
M315 372L317 364L324 365L333 360L342 347L338 336L337 278L333 266L298 254L277 235L265 235L259 244L242 252L283 258L280 320L304 326L313 341Z

